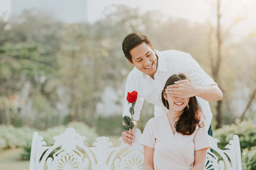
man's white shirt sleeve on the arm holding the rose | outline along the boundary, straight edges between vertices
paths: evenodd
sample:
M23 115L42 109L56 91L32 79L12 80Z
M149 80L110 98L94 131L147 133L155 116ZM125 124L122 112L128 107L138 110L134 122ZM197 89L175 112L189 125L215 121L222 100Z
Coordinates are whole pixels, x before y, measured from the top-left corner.
M129 75L127 77L126 83L125 83L125 94L124 94L124 112L123 112L123 117L128 116L131 118L131 113L130 113L130 107L131 104L127 102L127 92L132 92L136 90L138 92L138 88L136 88L136 85L134 84L134 81L132 80L131 76ZM140 92L138 92L138 97L137 101L134 105L134 118L133 120L138 121L140 119L140 111L143 105L143 97L141 97Z

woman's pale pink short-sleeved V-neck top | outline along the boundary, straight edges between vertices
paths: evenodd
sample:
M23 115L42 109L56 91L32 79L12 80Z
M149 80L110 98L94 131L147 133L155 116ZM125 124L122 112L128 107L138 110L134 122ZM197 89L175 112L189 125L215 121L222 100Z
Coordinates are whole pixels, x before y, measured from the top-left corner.
M191 135L173 134L166 115L148 120L140 144L154 148L155 170L191 169L195 151L211 148L205 126L197 126Z

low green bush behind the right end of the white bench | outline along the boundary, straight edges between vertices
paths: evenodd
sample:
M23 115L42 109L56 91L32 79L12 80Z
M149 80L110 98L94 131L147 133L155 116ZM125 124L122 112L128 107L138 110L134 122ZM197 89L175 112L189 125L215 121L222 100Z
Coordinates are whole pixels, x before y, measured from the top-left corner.
M252 120L244 120L243 122L237 122L232 125L224 125L221 129L214 131L214 138L218 138L219 148L224 149L234 134L239 136L241 151L245 148L250 149L252 146L256 146L256 125L252 124Z

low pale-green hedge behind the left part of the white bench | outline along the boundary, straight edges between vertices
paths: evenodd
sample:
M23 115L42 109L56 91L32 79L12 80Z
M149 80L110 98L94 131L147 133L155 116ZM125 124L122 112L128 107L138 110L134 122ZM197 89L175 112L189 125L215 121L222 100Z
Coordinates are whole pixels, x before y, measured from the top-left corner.
M68 125L60 125L57 127L52 127L47 129L47 131L38 132L40 136L43 136L44 141L48 146L54 144L52 139L56 135L60 135L65 132L67 127L73 127L77 133L86 137L84 144L86 146L92 146L92 143L97 138L97 134L94 129L89 128L88 125L81 122L70 122ZM33 132L36 129L31 129L29 127L13 127L12 125L0 125L0 150L7 148L24 148L21 157L24 160L29 160L31 152L31 144Z

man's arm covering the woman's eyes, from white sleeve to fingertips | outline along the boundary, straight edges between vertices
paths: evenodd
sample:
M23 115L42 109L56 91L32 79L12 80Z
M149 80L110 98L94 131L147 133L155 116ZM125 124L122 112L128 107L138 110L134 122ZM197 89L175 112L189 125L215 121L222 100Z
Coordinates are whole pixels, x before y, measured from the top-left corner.
M191 83L188 80L177 81L167 90L169 94L182 98L198 96L205 101L220 101L223 98L217 83L205 73L191 55L183 53L180 54L179 59L181 71L188 76Z

